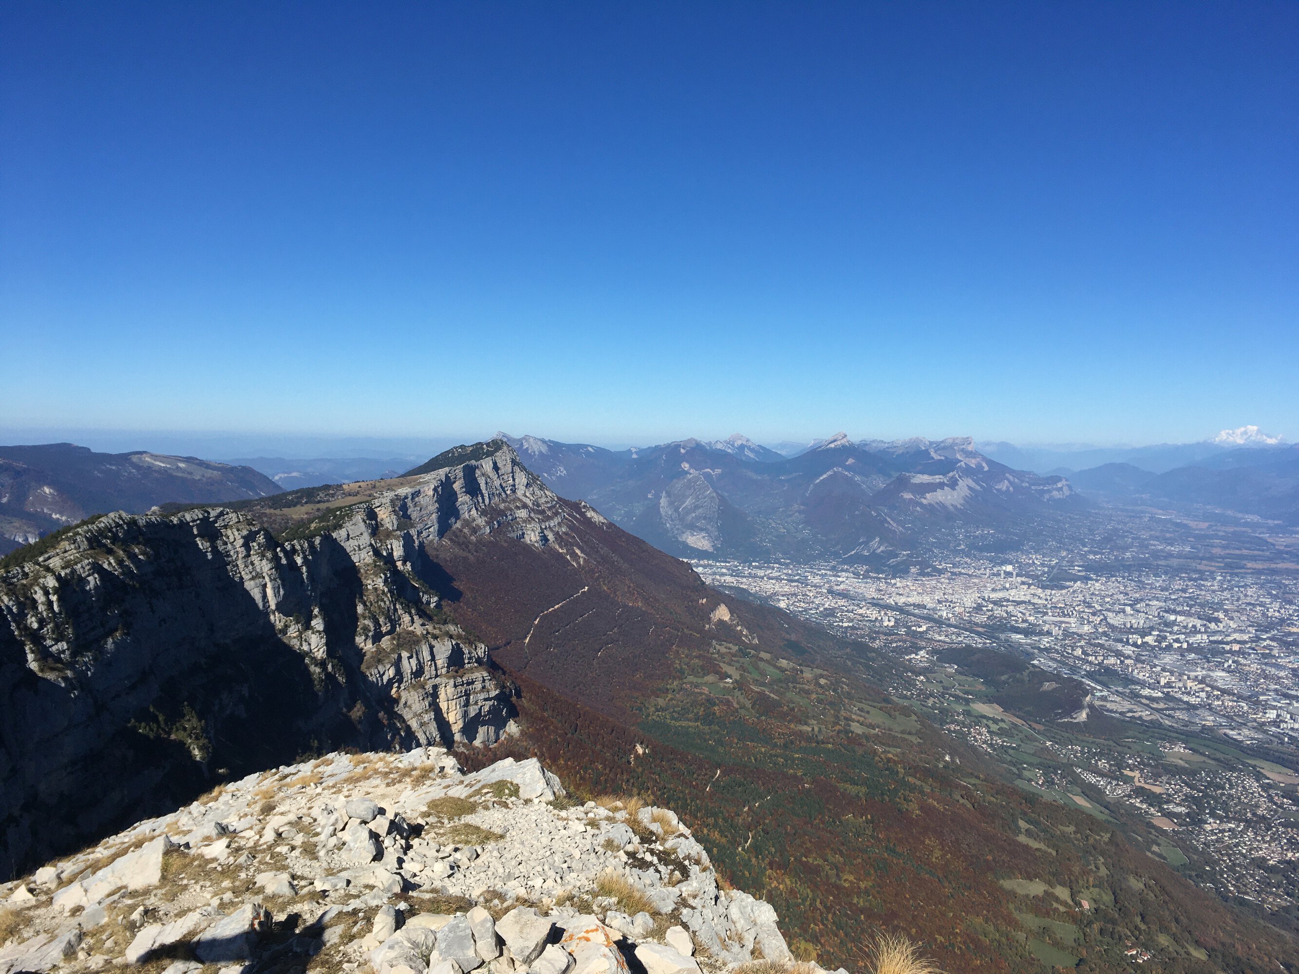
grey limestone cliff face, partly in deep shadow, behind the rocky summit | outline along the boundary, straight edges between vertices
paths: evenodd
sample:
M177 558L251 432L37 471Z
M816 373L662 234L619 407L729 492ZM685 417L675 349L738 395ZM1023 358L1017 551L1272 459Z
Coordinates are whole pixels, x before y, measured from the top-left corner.
M256 510L109 514L0 577L0 875L218 770L501 735L426 551L456 525L547 545L555 495L504 447L330 514L286 542Z

